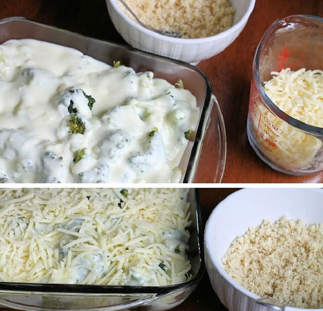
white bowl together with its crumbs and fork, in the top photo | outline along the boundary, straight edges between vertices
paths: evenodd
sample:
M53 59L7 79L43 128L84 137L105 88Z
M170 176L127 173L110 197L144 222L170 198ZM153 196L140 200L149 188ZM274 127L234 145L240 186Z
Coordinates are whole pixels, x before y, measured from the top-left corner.
M255 0L105 2L114 27L129 45L191 65L230 46L244 29L255 4ZM138 14L140 23L125 6Z

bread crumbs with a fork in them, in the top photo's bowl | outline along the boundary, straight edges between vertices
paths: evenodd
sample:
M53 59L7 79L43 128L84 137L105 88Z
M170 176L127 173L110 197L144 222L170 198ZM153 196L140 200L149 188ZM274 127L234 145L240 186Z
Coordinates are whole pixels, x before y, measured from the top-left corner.
M125 3L142 23L163 31L176 31L181 38L190 39L225 31L232 26L236 12L229 0L125 0ZM120 1L118 5L133 18Z

